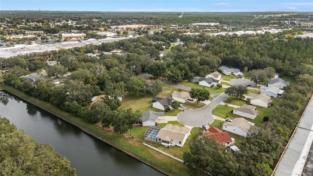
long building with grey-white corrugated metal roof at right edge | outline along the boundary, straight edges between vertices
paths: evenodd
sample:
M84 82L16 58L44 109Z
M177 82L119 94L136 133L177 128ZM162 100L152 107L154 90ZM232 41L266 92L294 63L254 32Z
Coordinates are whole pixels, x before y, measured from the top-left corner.
M311 97L298 126L292 134L285 151L277 163L274 173L275 176L300 176L307 170L308 155L312 153L313 142L313 96ZM311 148L311 150L310 150ZM312 169L309 171L312 172Z

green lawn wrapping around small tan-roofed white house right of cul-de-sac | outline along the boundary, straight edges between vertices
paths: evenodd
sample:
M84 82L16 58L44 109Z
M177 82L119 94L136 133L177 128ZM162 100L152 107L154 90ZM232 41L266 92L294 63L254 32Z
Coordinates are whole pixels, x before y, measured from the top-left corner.
M250 119L247 117L244 117L246 120L253 122L253 123L262 123L263 122L263 117L264 116L270 116L272 111L274 110L274 106L277 106L279 99L278 98L271 98L271 100L273 100L273 106L265 108L265 107L260 107L260 106L256 106L257 111L259 111L259 114L254 118L254 119ZM229 103L229 104L233 104ZM255 106L255 105L253 105ZM212 114L221 118L230 118L230 119L234 119L237 117L243 117L243 116L239 116L236 114L233 114L231 111L233 110L233 107L230 106L224 106L224 105L218 105L216 106L213 110L212 110ZM226 117L226 115L228 115L228 117Z

